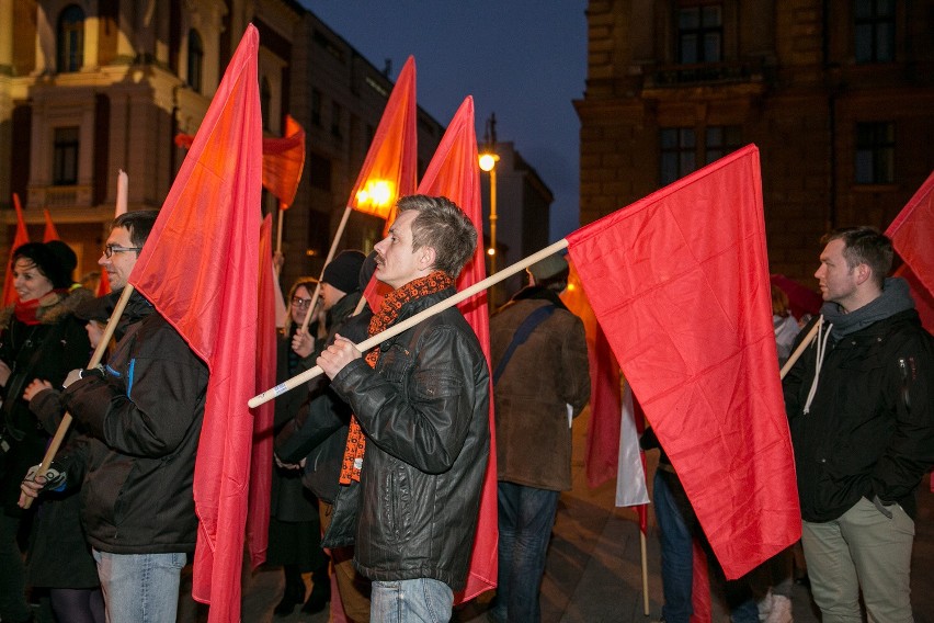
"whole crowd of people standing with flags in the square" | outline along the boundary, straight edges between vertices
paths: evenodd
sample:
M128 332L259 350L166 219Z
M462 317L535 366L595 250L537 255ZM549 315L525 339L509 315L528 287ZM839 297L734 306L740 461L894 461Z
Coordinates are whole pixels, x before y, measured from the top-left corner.
M354 622L449 620L494 434L499 576L487 616L535 623L558 501L571 488L571 428L590 399L583 322L559 297L569 267L560 256L529 267L528 286L491 315L489 363L456 307L361 352L356 343L454 295L477 245L444 197L397 207L369 256L343 251L320 283L300 279L289 291L277 381L314 365L324 374L276 401L266 558L283 573L275 614L330 603ZM47 599L60 623L176 619L196 540L207 366L134 292L104 362L86 367L156 216L114 220L99 261L113 294L101 298L72 282L77 258L65 243L14 250L18 301L0 315L4 623L35 620L27 596ZM777 363L798 356L784 389L807 574L824 622L859 621L861 608L870 621L911 621L914 495L934 465L934 339L904 282L887 279L888 238L846 228L824 245L819 317L801 329L773 290ZM363 298L374 276L388 287L375 310ZM804 343L813 326L817 339ZM66 411L75 423L39 472ZM704 534L651 432L643 446L662 454L653 492L663 619L686 623L692 543ZM726 582L732 619L790 623L793 559L789 548Z

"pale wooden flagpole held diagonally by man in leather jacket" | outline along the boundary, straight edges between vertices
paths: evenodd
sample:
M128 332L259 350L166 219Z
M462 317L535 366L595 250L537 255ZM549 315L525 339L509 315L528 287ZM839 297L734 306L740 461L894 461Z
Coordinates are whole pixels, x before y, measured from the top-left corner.
M446 299L442 301L441 303L432 305L428 309L424 309L424 310L420 312L419 314L415 314L411 318L408 318L408 319L399 322L398 325L389 327L388 329L386 329L381 333L377 333L377 335L373 336L372 338L368 338L368 339L360 342L360 344L357 344L356 348L361 352L366 352L369 349L372 349L373 347L388 340L389 338L396 337L399 333L409 330L410 328L414 327L415 325L418 325L422 320L431 318L432 316L440 314L441 312L444 312L448 307L454 307L455 305L457 305L462 301L466 301L467 298L470 298L471 296L474 296L478 292L482 292L482 291L487 290L488 287L491 287L491 286L498 284L499 282L503 281L504 279L514 275L515 273L531 267L535 262L540 261L540 260L547 258L548 256L555 254L558 251L560 251L561 249L565 249L567 247L568 247L568 241L567 241L567 239L562 238L561 240L558 240L554 245L550 245L548 247L545 247L540 251L532 253L531 256L528 256L524 260L517 261L516 263L512 264L508 269L503 269L503 270L499 271L498 273L496 273L491 276L488 276L483 281L478 281L477 283L475 283L474 285L471 285L469 287L465 287L463 291L458 292L457 294L455 294L451 298L446 298ZM258 394L257 396L253 396L252 398L250 398L250 400L247 404L250 406L250 408L259 407L260 405L267 403L267 401L272 400L273 398L281 396L282 394L285 394L289 389L294 389L295 387L298 387L303 383L307 383L308 381L315 378L316 376L319 376L322 372L323 371L321 370L321 367L316 365L311 370L308 370L306 372L303 372L301 374L293 376L288 381L280 384L280 385L276 385L275 387L266 389L262 394Z

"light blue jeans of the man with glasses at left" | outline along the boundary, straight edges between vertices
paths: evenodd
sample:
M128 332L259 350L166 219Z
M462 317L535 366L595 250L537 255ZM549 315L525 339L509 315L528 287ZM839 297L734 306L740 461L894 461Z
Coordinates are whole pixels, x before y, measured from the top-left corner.
M186 556L110 554L93 550L107 623L174 623Z

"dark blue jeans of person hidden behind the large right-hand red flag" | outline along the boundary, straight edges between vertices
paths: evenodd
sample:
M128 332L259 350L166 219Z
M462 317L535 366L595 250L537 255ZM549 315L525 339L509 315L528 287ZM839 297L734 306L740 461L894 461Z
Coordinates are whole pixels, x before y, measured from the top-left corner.
M665 623L688 623L694 613L691 598L694 585L693 541L699 532L697 516L674 474L656 471L653 491L656 519L661 531L662 618ZM711 556L708 553L708 558ZM759 623L759 608L747 580L727 581L725 592L730 621Z

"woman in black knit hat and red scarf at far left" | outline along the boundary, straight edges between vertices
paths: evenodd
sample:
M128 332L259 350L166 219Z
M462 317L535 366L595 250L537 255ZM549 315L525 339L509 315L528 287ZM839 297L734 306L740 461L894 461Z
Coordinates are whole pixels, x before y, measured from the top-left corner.
M31 512L16 502L20 482L42 461L48 435L23 393L34 378L61 385L88 364L90 343L75 307L91 293L72 288L75 252L60 241L27 242L13 251L16 303L0 312L0 619L31 621L18 534Z

